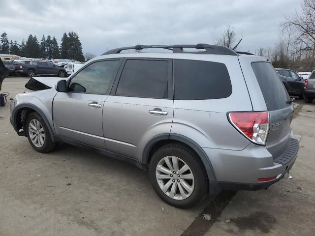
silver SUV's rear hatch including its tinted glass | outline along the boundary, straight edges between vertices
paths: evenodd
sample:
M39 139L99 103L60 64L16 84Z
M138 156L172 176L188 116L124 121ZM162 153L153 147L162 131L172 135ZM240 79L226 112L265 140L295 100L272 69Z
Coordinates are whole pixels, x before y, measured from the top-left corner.
M290 145L293 102L271 63L257 61L251 65L270 116L266 147L276 158Z

